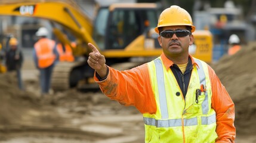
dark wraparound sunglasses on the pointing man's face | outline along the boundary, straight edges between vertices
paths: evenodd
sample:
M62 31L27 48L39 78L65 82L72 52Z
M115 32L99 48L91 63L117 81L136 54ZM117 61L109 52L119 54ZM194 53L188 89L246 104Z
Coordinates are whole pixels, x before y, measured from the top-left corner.
M177 37L184 37L184 36L187 36L187 35L191 35L191 32L189 30L175 30L175 31L172 31L172 30L164 30L160 33L160 36L164 37L164 38L172 38L173 35L176 35Z

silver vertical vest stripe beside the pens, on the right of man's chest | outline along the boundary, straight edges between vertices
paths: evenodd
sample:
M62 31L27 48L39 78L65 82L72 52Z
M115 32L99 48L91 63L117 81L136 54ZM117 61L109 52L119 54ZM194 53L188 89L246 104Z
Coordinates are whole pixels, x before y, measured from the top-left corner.
M195 59L196 63L198 64L198 75L200 79L200 85L206 85L206 80L205 80L205 72L203 71L203 66L201 61L198 59ZM207 114L209 111L209 106L208 106L208 91L205 92L205 100L202 102L202 112L203 114Z

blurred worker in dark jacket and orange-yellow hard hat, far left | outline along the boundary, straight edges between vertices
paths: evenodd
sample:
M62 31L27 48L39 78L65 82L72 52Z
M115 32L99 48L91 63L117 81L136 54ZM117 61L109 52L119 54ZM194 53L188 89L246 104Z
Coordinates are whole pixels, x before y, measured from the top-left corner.
M18 41L16 38L10 38L9 48L5 53L5 65L7 66L7 71L16 71L18 88L23 90L23 82L21 79L21 66L23 63L23 54L18 48Z

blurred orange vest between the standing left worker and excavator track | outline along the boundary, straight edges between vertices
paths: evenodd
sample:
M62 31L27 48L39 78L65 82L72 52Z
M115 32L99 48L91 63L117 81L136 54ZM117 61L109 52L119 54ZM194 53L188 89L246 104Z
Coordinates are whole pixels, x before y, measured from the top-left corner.
M75 58L73 57L72 54L72 49L70 48L69 45L65 45L65 52L63 51L63 47L61 45L61 43L57 44L57 51L59 54L59 58L58 60L60 61L74 61Z

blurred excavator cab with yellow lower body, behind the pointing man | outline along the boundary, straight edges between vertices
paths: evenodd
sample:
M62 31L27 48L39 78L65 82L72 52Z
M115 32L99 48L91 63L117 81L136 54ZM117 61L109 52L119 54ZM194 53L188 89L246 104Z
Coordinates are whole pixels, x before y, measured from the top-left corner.
M94 20L92 38L106 58L149 57L161 54L156 4L112 4L101 7Z

